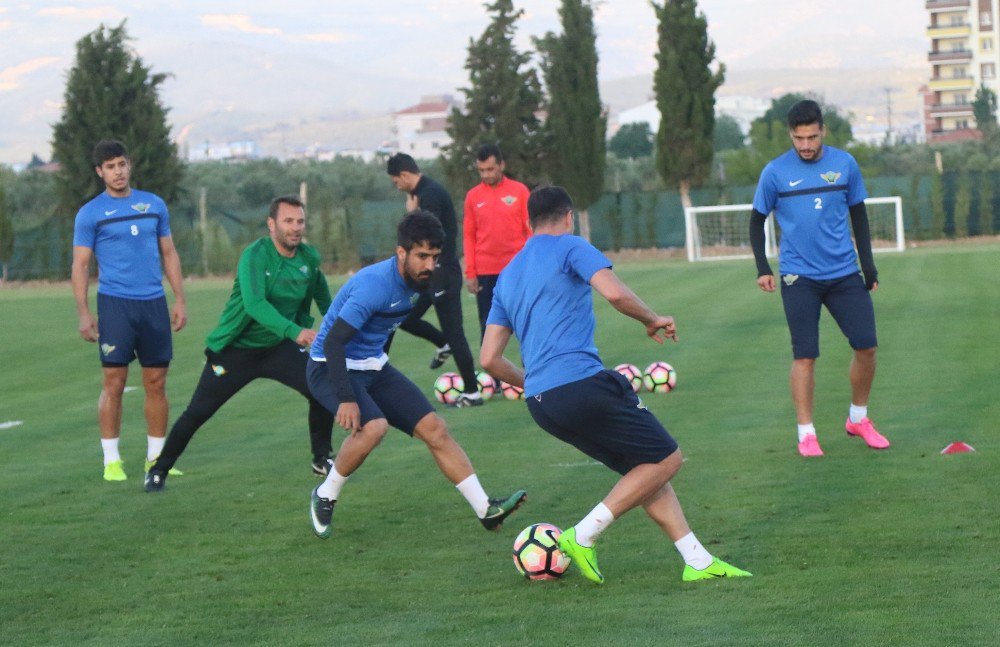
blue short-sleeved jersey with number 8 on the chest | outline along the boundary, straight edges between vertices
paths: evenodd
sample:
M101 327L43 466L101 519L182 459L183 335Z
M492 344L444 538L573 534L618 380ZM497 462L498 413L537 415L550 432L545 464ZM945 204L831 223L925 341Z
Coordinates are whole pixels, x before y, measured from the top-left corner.
M80 208L73 245L97 257L97 291L125 299L164 295L160 238L170 235L170 214L159 196L132 189L127 197L102 193Z

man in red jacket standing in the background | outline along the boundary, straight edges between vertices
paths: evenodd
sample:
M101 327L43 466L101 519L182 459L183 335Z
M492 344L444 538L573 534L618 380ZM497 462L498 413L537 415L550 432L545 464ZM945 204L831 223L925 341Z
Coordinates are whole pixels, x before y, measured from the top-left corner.
M480 146L476 170L482 182L465 194L465 285L476 295L480 339L486 331L497 276L531 236L530 192L506 177L504 166L503 153L496 144Z

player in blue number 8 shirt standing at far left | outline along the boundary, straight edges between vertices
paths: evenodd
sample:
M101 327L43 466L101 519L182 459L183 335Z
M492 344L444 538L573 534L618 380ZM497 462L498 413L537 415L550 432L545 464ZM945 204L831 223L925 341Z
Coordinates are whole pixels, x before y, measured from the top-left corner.
M125 146L117 141L99 142L93 163L104 191L76 214L73 297L80 336L99 342L104 380L97 420L104 479L124 481L118 438L128 366L139 358L146 391L146 460L152 461L167 434L167 367L173 357L170 329L176 332L187 323L184 283L170 236L167 205L158 196L131 187L132 165ZM92 257L97 258L98 267L96 319L87 299ZM174 292L172 315L163 291L164 274Z

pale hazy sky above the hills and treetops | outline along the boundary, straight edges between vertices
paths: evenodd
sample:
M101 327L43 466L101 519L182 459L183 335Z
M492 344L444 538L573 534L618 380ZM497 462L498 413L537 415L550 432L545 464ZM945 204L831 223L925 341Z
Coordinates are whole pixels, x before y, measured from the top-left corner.
M526 12L522 50L531 36L558 30L559 4L515 0ZM702 0L699 7L730 69L926 65L923 2ZM316 65L351 85L327 88L340 108L398 109L467 83L469 38L488 23L477 0L0 0L0 162L48 154L74 43L125 18L146 64L174 75L163 98L175 117L280 99L282 80L308 83L298 68ZM646 0L605 0L596 20L602 80L654 69L656 21ZM294 116L301 106L290 103Z

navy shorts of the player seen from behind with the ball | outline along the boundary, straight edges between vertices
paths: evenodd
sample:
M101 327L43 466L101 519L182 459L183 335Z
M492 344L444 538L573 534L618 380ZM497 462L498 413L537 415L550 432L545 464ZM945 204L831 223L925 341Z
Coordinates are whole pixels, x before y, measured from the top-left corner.
M617 371L557 386L527 402L539 427L619 474L677 451L677 441Z

